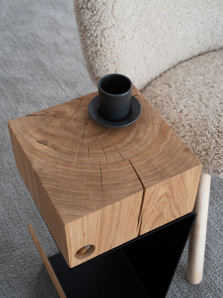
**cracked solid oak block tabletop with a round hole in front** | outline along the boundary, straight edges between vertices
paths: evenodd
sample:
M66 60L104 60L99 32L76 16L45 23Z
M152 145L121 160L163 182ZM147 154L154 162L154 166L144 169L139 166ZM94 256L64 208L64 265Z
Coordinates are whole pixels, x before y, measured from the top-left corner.
M18 170L70 267L192 211L201 163L148 101L123 128L94 122L97 94L8 122ZM85 245L94 249L76 252Z

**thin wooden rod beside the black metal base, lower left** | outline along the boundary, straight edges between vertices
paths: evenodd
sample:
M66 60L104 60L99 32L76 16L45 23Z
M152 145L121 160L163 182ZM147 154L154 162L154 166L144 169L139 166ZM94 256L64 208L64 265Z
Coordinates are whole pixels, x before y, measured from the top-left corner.
M53 282L53 284L54 284L54 286L57 290L58 295L60 296L60 298L66 298L66 295L65 295L65 293L64 293L64 291L63 291L63 289L62 289L62 287L61 287L61 285L60 285L60 283L59 283L59 281L58 281L58 279L55 275L55 272L54 272L54 270L53 270L53 268L52 268L52 266L51 266L51 264L50 264L50 262L49 262L49 260L46 256L46 254L45 254L45 252L42 248L42 245L39 242L38 237L36 236L36 233L35 233L32 225L29 224L27 226L27 228L28 228L28 231L29 231L29 233L32 237L32 240L33 240L33 242L34 242L34 244L35 244L35 246L36 246L36 248L37 248L37 250L38 250L38 252L39 252L39 254L42 258L42 260L43 260L43 263L44 263L44 265L45 265L45 267L46 267L46 269L49 273L49 276L52 279L52 282Z

